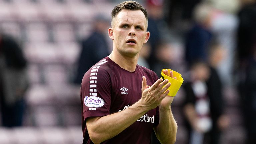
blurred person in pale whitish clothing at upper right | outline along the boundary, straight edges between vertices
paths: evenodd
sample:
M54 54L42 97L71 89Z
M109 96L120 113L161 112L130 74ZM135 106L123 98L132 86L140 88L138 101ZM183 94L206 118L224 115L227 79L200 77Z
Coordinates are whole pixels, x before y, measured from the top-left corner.
M228 53L217 67L223 86L234 86L234 58L238 18L235 15L239 0L209 0L214 7L211 31Z

